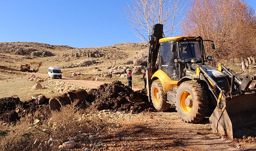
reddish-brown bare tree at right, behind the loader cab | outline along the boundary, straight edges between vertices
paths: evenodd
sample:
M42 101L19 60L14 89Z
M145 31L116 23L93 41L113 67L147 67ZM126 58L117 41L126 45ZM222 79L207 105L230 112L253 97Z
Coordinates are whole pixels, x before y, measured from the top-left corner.
M255 12L242 0L191 0L183 20L183 33L211 39L216 60L255 54Z

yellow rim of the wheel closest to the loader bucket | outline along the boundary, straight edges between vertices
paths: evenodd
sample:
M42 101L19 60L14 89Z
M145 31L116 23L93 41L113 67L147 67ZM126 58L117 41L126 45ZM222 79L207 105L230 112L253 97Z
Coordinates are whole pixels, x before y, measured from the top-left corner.
M192 100L191 94L188 91L183 91L180 96L180 107L181 107L181 111L185 114L189 114L189 112L191 112L192 110L192 105L190 106L186 105L187 98Z

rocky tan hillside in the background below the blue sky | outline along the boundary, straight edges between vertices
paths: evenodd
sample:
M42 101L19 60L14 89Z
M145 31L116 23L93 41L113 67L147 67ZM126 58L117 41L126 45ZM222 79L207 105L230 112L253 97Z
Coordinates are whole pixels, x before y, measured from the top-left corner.
M58 66L63 68L67 77L90 75L87 77L99 78L112 77L112 74L117 77L124 74L128 68L136 68L139 71L137 74L141 74L147 62L147 47L147 43L74 48L34 42L2 42L0 60L2 66L17 70L21 64L42 62L39 70L41 73L46 73L49 66Z

